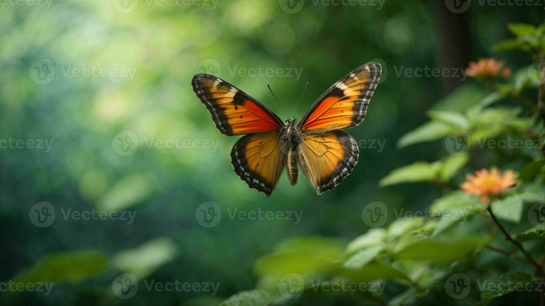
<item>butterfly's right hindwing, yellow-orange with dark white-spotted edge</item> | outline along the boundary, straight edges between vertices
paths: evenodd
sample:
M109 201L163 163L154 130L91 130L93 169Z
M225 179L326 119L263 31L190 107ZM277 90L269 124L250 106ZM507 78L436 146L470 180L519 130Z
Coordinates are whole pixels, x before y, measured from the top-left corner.
M298 162L318 194L333 189L352 172L360 150L352 136L342 130L302 133Z

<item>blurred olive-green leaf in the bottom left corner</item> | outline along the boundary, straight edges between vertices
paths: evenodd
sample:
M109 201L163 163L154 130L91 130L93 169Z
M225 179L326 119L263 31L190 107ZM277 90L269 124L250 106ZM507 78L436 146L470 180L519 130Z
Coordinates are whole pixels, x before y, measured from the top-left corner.
M14 282L81 283L108 268L108 258L98 251L56 252L44 255L32 267L18 273Z

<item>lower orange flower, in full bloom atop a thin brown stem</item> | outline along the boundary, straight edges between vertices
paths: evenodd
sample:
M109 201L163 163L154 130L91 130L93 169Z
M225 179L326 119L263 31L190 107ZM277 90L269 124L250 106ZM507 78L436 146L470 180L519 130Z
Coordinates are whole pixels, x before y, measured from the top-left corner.
M463 183L460 188L467 192L468 195L481 196L481 202L488 204L490 201L489 195L497 195L498 193L511 188L517 182L513 179L513 170L505 171L500 176L498 169L493 169L491 172L488 169L482 168L480 171L475 171L476 177L465 176L467 182Z

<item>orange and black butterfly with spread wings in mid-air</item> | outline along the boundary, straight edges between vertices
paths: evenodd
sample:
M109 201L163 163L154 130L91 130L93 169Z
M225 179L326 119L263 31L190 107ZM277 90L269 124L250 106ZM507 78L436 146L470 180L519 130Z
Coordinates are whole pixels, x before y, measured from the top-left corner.
M282 122L256 99L210 74L197 74L191 85L222 134L244 135L231 150L231 164L250 188L269 197L284 168L288 182L297 183L299 166L319 195L341 183L358 163L358 144L341 129L364 120L380 73L378 63L356 68L297 123L295 117Z

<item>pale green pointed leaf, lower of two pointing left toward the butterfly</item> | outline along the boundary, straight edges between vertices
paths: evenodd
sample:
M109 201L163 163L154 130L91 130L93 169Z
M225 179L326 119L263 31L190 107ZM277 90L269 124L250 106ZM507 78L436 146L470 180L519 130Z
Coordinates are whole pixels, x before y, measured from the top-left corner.
M417 161L414 164L397 168L390 172L378 183L380 187L395 185L400 183L425 182L434 180L440 170L441 163L426 163Z

